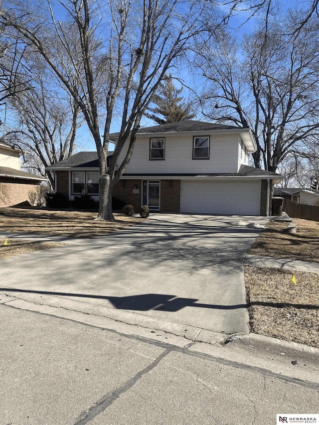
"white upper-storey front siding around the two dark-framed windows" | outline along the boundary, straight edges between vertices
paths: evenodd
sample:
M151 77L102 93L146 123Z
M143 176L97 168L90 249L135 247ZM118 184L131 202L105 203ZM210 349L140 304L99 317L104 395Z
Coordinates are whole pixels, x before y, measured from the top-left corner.
M208 136L209 134L205 134ZM150 138L136 141L126 173L223 173L238 171L238 136L210 135L209 159L192 159L193 136L165 136L165 159L150 160ZM119 158L124 158L125 147Z

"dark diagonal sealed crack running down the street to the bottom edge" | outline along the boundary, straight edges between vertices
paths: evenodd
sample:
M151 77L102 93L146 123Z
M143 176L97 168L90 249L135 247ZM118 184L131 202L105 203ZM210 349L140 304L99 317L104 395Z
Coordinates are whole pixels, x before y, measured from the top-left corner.
M82 412L80 417L83 415L84 417L82 417L80 420L75 422L74 425L87 424L89 421L92 421L92 419L95 418L97 415L104 412L106 408L111 406L111 404L115 402L121 396L121 394L130 390L142 378L142 376L151 372L160 363L160 361L164 357L166 357L167 354L169 354L171 351L172 351L171 348L167 348L149 366L147 366L145 369L138 372L132 379L130 379L124 385L122 385L122 387L115 390L111 395L104 396L102 400L100 400L97 404L94 404L86 412Z

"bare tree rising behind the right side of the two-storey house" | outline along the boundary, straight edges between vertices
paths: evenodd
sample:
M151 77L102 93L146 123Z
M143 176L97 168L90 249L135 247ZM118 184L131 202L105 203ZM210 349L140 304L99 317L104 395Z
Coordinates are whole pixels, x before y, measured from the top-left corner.
M286 155L306 139L319 134L318 22L309 22L293 35L287 28L298 10L281 22L244 38L242 48L223 33L206 53L203 74L210 81L206 115L239 127L250 127L257 144L256 167L276 171ZM209 55L209 56L208 56Z

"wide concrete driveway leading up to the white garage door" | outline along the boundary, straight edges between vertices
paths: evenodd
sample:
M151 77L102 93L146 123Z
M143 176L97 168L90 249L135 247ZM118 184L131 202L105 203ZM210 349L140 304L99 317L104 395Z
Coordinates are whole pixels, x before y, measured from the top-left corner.
M242 263L261 229L239 221L268 219L154 214L105 237L2 259L1 293L142 326L151 321L155 329L248 333Z

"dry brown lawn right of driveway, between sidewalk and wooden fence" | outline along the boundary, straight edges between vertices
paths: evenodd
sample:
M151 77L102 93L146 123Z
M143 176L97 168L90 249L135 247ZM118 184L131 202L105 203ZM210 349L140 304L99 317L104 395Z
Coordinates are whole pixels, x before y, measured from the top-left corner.
M289 223L269 222L248 253L319 263L319 222L294 218L293 223L296 234L283 232Z

